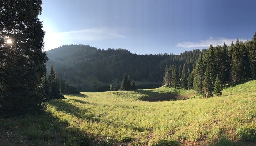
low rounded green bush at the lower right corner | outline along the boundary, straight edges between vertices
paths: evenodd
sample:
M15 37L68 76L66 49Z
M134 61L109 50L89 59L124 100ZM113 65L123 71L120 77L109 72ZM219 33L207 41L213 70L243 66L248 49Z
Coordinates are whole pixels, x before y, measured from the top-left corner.
M248 127L236 129L236 134L242 141L256 142L256 130Z

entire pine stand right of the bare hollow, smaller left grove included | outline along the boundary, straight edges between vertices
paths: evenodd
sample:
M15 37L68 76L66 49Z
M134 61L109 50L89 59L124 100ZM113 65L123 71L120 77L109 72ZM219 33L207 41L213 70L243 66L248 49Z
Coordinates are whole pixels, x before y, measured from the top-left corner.
M231 46L224 43L222 46L210 45L198 54L198 60L193 60L188 65L185 62L179 65L175 62L170 67L166 65L163 85L174 86L177 84L185 89L195 89L197 94L211 97L213 94L220 96L221 87L235 84L241 80L255 78L256 73L256 32L252 40L245 43L236 40ZM180 57L183 54L177 55ZM194 58L194 57L190 57ZM179 70L178 66L179 65Z

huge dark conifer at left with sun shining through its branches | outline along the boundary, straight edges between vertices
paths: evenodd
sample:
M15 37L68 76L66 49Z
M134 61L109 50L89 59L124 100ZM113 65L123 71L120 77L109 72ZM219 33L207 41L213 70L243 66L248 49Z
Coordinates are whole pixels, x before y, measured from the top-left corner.
M0 111L2 115L41 110L45 62L44 34L38 16L41 0L0 2Z

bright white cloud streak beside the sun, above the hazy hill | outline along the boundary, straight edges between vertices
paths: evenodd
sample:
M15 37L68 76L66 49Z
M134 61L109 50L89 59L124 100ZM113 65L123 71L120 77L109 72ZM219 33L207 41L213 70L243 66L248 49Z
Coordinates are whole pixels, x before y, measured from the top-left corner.
M120 34L123 31L125 31L124 28L92 28L60 33L46 30L46 34L44 36L44 48L46 51L65 44L72 44L74 41L94 41L112 38L125 38L124 35Z

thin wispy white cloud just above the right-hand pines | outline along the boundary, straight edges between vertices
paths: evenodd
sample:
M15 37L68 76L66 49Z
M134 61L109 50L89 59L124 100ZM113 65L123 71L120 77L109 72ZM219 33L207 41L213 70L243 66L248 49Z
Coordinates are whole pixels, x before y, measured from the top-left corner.
M224 42L225 44L227 44L228 46L231 45L232 41L235 43L236 39L228 39L228 38L223 38L223 37L209 37L206 40L201 40L199 42L190 42L190 41L184 41L181 43L178 43L176 46L177 47L185 47L185 48L194 48L194 47L198 47L198 48L205 48L205 47L209 47L210 44L212 44L213 46L219 44L222 45ZM245 42L247 39L239 39L240 41L243 40L243 42Z

